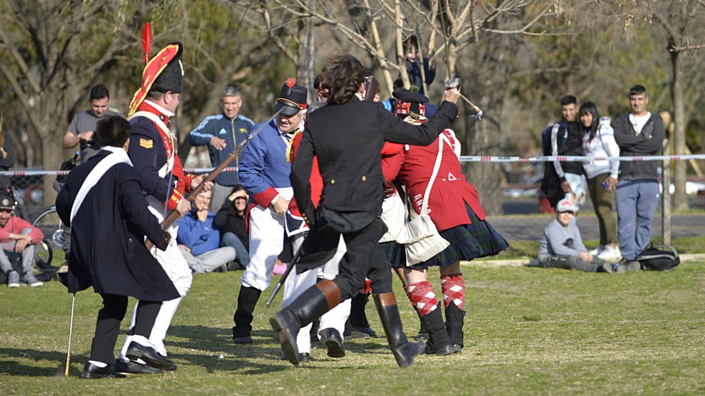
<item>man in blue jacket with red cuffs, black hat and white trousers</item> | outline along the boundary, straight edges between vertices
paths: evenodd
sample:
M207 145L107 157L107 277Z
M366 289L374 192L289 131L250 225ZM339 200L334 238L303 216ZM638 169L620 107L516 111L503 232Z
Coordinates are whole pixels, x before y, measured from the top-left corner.
M240 182L251 199L250 264L240 278L242 287L233 315L235 344L252 344L252 312L259 295L269 287L276 258L283 251L284 215L294 196L286 153L295 132L303 130L307 96L306 87L288 78L274 106L274 111L280 111L278 116L250 140L240 159Z

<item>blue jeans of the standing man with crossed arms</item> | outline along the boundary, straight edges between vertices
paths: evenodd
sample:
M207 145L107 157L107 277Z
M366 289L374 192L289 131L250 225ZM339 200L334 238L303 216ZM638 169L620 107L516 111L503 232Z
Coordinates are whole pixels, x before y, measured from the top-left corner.
M622 256L633 260L651 241L651 222L661 193L656 180L617 182L617 236Z

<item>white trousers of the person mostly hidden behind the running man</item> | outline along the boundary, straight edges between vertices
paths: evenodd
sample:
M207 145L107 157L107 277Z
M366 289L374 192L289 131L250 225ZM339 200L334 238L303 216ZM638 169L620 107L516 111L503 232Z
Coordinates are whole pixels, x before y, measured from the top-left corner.
M297 234L291 238L293 251L297 252L303 244L304 234ZM341 236L335 256L333 256L333 258L323 266L322 270L321 268L316 268L297 275L296 268L294 268L284 281L281 307L286 308L297 297L299 297L302 292L307 290L309 287L316 285L319 270L321 270L325 279L332 280L335 278L338 275L338 262L340 262L343 258L345 251L345 242L343 242L343 237ZM343 331L345 330L345 321L348 320L348 316L350 316L350 299L346 299L330 311L323 314L319 325L319 340L321 339L321 335L323 335L324 330L328 328L335 328L342 336ZM312 323L309 323L307 326L302 327L301 330L299 330L296 337L296 345L298 346L299 353L311 352L311 336L309 335L311 326Z

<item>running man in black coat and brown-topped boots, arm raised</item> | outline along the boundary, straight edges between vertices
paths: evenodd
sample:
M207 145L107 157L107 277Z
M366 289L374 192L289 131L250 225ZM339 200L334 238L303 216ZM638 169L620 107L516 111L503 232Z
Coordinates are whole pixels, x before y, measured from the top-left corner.
M335 252L340 235L348 252L334 280L310 287L269 321L288 360L298 364L299 328L353 297L367 276L389 346L399 366L409 366L424 343L409 342L402 330L391 271L378 243L383 234L379 215L384 200L379 153L385 140L424 146L433 142L455 119L460 92L446 89L434 118L411 125L381 104L361 100L364 68L355 57L331 58L323 75L331 82L328 104L309 115L291 173L294 197L310 228L297 268L305 271L324 264ZM309 185L314 156L324 182L318 209L314 209Z

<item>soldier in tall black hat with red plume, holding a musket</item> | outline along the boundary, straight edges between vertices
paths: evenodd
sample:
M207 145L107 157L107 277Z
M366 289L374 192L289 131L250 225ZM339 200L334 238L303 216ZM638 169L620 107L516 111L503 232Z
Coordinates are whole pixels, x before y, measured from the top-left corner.
M142 73L142 87L137 89L130 103L129 120L133 130L128 153L135 170L140 174L140 183L149 203L149 211L160 222L164 220L167 211L176 209L182 215L187 213L191 209L191 203L184 194L197 187L208 176L206 174L196 177L183 173L181 161L176 155L178 148L176 137L168 128L169 118L175 116L181 95L182 52L183 44L180 42L173 42L161 49L145 66L145 71ZM209 182L204 190L210 190L212 185L212 182ZM168 228L171 241L166 251L153 249L154 256L180 295L176 299L161 304L159 315L149 335L149 342L162 356L166 356L164 347L166 330L171 323L171 318L176 314L178 304L191 287L192 281L191 270L176 245L177 231L178 224ZM147 368L138 366L135 361L125 364L130 340L131 337L128 336L121 353L121 371L145 372ZM139 364L140 361L136 363ZM167 369L176 370L176 365Z

